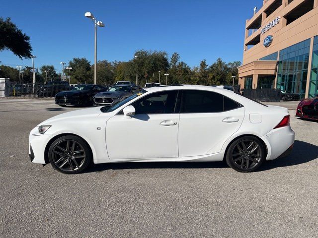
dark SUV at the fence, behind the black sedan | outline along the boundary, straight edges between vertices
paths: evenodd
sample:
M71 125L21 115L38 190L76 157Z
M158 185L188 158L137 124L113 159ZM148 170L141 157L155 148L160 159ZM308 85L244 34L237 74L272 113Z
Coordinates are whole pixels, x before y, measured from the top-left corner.
M49 81L38 88L38 97L55 97L58 92L70 90L70 83L67 81Z

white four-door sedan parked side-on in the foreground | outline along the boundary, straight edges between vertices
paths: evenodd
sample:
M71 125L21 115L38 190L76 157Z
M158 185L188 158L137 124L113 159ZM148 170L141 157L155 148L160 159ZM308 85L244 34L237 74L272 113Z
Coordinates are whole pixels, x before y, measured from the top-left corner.
M194 85L143 90L110 107L64 113L29 136L32 162L65 173L93 162L222 161L239 172L288 155L288 110L232 91Z

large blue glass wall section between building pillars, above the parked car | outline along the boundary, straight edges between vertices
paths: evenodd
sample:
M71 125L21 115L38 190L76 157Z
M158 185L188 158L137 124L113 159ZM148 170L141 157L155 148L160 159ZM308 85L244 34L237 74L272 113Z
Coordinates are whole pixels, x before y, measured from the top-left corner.
M277 89L297 93L305 97L310 39L290 46L280 51Z

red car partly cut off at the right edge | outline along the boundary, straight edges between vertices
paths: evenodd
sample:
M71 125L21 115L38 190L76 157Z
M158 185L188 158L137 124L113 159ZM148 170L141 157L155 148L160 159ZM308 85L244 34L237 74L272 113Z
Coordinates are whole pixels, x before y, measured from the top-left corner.
M318 120L318 97L301 101L297 106L296 117Z

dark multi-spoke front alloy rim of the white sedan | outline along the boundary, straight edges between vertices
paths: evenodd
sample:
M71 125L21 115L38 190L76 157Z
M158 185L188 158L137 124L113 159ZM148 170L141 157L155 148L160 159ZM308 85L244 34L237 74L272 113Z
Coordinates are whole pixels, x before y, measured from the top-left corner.
M75 140L62 140L52 151L53 163L62 171L72 172L79 170L85 160L84 148Z

